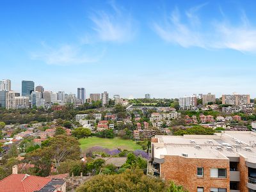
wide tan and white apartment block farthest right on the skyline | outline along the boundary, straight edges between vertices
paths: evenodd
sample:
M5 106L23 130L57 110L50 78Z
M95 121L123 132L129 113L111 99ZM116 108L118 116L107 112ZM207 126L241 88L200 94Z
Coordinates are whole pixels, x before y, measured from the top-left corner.
M250 95L239 95L237 93L233 93L233 95L222 95L222 104L232 106L250 104Z

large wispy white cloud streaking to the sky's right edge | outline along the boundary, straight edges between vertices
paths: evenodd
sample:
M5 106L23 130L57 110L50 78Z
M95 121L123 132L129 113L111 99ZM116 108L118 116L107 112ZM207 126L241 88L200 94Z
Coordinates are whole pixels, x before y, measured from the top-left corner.
M244 12L241 14L239 24L236 25L230 24L227 17L204 23L205 20L200 19L198 12L206 5L207 3L200 4L184 13L180 13L179 8L175 8L170 17L164 18L164 22L154 22L153 29L166 42L179 44L182 47L234 49L256 53L256 27L250 24ZM221 15L224 15L222 10ZM209 27L208 30L205 30L206 26Z

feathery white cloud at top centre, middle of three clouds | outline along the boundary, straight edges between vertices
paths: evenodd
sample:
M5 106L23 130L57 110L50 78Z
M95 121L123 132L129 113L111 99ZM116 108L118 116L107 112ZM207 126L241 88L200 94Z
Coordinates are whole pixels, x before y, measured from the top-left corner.
M93 22L93 30L102 41L127 42L134 38L136 27L134 19L124 8L118 8L115 1L111 1L111 13L95 11L90 19Z

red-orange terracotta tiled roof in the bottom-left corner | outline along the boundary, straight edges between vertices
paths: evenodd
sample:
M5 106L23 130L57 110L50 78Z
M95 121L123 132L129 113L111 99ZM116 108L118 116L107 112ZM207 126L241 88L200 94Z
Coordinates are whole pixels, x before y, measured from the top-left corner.
M27 174L12 174L0 180L0 191L33 192L45 186L51 179Z

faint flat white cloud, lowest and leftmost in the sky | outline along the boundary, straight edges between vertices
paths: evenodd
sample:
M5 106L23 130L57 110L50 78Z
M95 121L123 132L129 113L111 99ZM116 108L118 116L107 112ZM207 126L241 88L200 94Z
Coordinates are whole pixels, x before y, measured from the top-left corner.
M42 43L44 51L31 52L32 60L42 60L49 65L77 65L95 63L102 58L104 51L85 52L83 47L76 45L61 45L58 48Z

